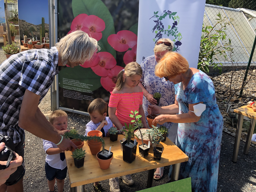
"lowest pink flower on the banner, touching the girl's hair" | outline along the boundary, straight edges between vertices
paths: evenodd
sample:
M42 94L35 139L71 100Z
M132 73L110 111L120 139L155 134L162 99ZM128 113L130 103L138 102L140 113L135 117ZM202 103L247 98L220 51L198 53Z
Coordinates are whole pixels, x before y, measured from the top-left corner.
M117 75L121 70L123 70L123 67L120 67L118 65L114 66L112 69L108 70L108 76L107 77L101 77L101 85L104 89L111 92L113 91L115 84L117 82Z

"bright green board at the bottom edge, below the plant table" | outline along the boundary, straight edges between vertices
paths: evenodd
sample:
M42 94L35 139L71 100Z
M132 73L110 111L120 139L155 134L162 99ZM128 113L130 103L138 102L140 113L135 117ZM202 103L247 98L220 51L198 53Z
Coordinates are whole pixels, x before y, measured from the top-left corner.
M191 177L177 180L171 183L158 185L148 189L143 189L140 192L191 192Z

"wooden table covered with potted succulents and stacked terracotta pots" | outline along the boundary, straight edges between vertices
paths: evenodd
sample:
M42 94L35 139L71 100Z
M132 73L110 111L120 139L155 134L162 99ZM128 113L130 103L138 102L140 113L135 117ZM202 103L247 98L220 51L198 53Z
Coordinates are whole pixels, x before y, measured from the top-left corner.
M106 144L106 149L111 147L114 158L111 161L110 167L107 170L102 170L99 167L96 155L92 155L89 146L85 142L83 150L87 153L85 155L84 167L76 168L74 159L71 157L71 151L65 151L70 187L71 191L84 191L84 185L105 179L119 177L127 174L137 173L141 171L148 171L147 188L152 187L154 169L158 167L173 165L171 180L175 181L179 178L180 163L188 161L188 156L183 153L170 139L161 142L158 146L163 147L164 151L160 161L153 159L153 149L149 150L149 155L143 158L139 155L139 148L137 146L136 159L132 163L127 163L123 160L123 151L120 149L120 142L124 135L118 135L118 140L110 141L109 137L103 137ZM136 181L135 181L136 182ZM75 190L74 188L75 187Z

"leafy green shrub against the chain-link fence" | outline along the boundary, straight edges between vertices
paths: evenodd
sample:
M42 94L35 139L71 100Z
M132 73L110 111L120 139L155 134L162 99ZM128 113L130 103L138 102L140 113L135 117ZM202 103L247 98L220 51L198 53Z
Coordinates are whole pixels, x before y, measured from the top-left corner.
M203 25L197 69L208 73L210 67L213 66L213 69L218 69L221 74L222 63L218 62L214 56L223 55L227 59L227 52L233 53L231 40L226 39L227 34L225 32L226 26L230 25L233 19L222 18L220 13L217 16L217 22L213 27Z

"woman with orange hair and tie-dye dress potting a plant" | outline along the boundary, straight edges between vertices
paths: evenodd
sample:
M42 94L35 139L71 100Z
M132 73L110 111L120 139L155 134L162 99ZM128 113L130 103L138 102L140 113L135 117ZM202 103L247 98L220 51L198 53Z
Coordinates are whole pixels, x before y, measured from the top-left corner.
M204 72L189 68L187 60L176 52L163 57L155 74L175 84L175 104L150 105L148 112L167 114L155 118L159 124L179 123L176 144L189 157L188 162L181 163L179 179L191 177L193 192L216 192L223 118L216 104L212 80ZM206 105L202 114L194 111L193 106L199 103ZM172 167L169 177L171 171Z

